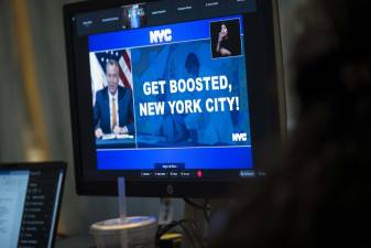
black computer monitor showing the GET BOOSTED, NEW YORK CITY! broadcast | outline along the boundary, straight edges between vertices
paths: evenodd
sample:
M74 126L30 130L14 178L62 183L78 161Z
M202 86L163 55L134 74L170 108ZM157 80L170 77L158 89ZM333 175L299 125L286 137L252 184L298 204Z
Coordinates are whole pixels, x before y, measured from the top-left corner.
M65 6L77 192L116 195L124 176L132 196L214 197L269 173L258 148L284 127L274 2Z

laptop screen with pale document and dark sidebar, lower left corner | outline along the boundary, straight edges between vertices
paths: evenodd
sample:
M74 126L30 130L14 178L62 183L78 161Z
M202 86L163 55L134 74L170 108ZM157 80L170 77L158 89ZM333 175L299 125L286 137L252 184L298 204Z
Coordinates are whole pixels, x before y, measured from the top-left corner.
M0 164L0 247L52 248L66 166Z

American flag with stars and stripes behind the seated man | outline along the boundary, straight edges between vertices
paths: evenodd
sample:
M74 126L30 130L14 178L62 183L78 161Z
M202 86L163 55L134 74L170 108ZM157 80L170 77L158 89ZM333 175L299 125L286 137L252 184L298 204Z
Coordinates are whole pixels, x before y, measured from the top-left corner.
M96 103L96 93L107 86L106 63L114 60L120 65L120 83L126 88L133 88L131 53L130 50L116 50L99 53L90 53L90 77L92 105Z

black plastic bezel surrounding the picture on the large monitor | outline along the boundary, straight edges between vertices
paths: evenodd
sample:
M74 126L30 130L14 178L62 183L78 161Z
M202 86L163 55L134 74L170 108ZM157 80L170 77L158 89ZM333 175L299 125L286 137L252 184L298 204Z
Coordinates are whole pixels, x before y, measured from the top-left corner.
M157 1L157 0L155 0ZM141 2L153 1L88 1L78 3L68 3L64 6L64 25L66 37L66 55L67 55L67 68L68 68L68 85L69 85L69 104L70 104L70 117L72 117L72 132L73 132L73 147L74 147L74 162L75 162L75 181L76 191L79 195L117 195L117 182L114 176L110 179L92 179L84 176L84 158L81 154L83 143L80 141L80 119L76 108L77 106L77 84L76 72L74 64L74 47L73 47L73 23L72 17L76 13L97 11L101 9L116 8L121 6L128 6ZM271 50L271 57L268 60L270 68L266 74L269 75L263 84L252 85L249 84L249 107L250 107L250 120L251 120L251 142L253 147L253 159L255 164L260 164L260 149L268 139L281 140L285 133L285 107L284 106L284 90L283 85L283 68L282 68L282 51L281 51L281 37L277 29L279 22L279 8L276 3L272 3L270 0L257 1L258 8L264 9L264 11L257 13L259 18L265 22L264 25L269 29L266 32L271 36L269 48ZM280 77L280 78L279 78ZM269 99L262 99L262 96L254 96L251 90L254 87L270 88ZM272 104L273 103L273 104ZM264 115L257 111L252 105L260 105L259 109L263 109ZM257 123L259 119L259 123ZM263 123L263 127L261 127ZM119 173L118 173L119 176ZM251 179L254 180L254 179ZM220 180L220 181L172 181L172 180L139 180L133 181L127 179L127 195L128 196L146 196L146 197L225 197L228 196L229 190L245 185L251 180Z

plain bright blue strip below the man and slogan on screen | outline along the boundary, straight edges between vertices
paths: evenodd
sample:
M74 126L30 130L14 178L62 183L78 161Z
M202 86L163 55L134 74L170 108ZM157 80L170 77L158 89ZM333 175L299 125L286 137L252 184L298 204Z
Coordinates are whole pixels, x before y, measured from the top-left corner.
M100 150L98 170L154 170L155 163L184 163L186 170L252 169L250 147Z

